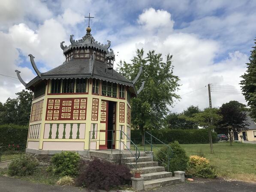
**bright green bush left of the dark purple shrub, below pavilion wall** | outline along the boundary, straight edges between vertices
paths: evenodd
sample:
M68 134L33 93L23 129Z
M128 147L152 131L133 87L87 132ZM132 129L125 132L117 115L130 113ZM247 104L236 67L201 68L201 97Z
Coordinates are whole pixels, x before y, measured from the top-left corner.
M78 174L78 165L80 156L78 153L71 151L63 151L55 154L51 158L51 165L48 171L52 171L58 176L70 176L75 177Z

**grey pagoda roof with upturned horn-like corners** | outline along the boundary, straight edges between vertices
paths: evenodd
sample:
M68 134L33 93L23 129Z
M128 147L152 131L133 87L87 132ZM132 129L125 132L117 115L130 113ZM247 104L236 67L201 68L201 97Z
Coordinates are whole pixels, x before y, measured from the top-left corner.
M57 66L54 69L51 69L48 72L41 73L38 68L36 67L36 63L34 61L34 56L32 54L29 54L31 64L33 66L33 69L35 70L37 76L33 78L30 82L25 83L21 76L20 71L16 70L16 74L18 76L18 79L21 81L21 83L27 88L33 90L33 87L39 83L40 81L48 80L48 79L68 79L68 78L96 78L103 81L113 82L117 84L122 84L129 86L130 91L137 95L139 92L143 89L144 83L142 83L142 86L140 89L136 90L135 83L138 80L140 74L142 73L142 66L139 69L139 73L137 77L130 81L127 78L123 77L123 75L120 75L117 71L113 69L113 63L111 66L112 70L109 70L108 65L109 62L114 61L114 51L110 49L108 51L108 48L110 47L110 41L107 41L108 44L103 45L93 38L93 36L90 34L91 28L87 27L86 29L87 33L86 35L79 40L74 40L73 35L70 36L70 42L71 45L64 46L63 43L60 43L60 48L63 50L63 54L67 54L69 51L73 49L93 49L96 51L105 52L105 62L100 62L95 60L96 52L94 51L92 55L90 55L90 58L85 59L74 59L74 57L71 57L71 60L65 61L62 65Z

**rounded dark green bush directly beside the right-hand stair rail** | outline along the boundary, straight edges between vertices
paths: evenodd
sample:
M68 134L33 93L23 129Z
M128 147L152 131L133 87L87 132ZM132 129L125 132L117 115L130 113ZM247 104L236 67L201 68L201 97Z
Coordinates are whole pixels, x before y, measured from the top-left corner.
M169 161L168 157L170 157L169 171L186 171L189 158L186 155L185 150L181 148L178 141L170 143L169 146L171 147L171 150L167 146L162 147L156 153L155 159L158 160L160 164L165 166L167 169Z

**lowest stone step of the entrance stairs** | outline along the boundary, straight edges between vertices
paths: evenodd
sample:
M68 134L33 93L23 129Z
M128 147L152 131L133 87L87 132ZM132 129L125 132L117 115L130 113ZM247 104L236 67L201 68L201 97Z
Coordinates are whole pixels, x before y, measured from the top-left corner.
M144 189L152 189L156 187L173 185L180 182L181 182L181 178L178 178L178 177L166 177L162 179L148 180L148 181L144 181Z

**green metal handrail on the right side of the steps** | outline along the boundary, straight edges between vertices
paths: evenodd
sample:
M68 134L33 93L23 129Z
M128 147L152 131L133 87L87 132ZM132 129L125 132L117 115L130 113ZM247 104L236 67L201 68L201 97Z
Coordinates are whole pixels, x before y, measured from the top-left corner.
M150 136L150 142L146 140L146 134L148 134L148 135ZM159 149L158 147L154 146L152 138L155 138L155 139L156 139L157 141L159 141L161 144L164 144L166 147L168 147L168 153L166 154L166 153L164 153L161 149ZM164 163L161 159L157 158L156 156L154 156L154 157L155 157L156 159L158 159L160 162L162 162L164 165L168 166L168 171L170 171L170 159L171 159L172 154L171 154L171 156L170 156L170 153L169 153L169 152L172 153L172 148L171 148L169 145L165 144L163 141L160 141L158 138L156 138L154 135L152 135L151 133L149 133L149 132L147 132L147 131L144 132L144 151L146 151L145 142L147 142L148 144L150 144L150 146L151 146L151 151L153 151L153 147L154 147L155 149L157 149L158 151L160 151L161 153L163 153L164 155L167 156L168 164Z

